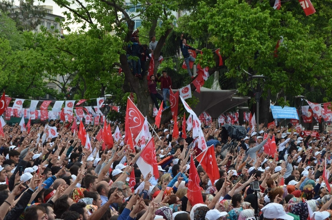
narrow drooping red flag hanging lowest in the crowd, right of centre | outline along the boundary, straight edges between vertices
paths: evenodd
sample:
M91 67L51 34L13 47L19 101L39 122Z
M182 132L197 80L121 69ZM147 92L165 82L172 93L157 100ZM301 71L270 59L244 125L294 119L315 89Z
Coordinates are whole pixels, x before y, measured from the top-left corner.
M200 183L200 179L199 179L199 176L197 173L197 169L195 167L193 156L191 155L190 156L187 197L188 197L188 200L190 201L190 205L192 205L192 206L195 206L198 203L204 203L202 193L201 193L201 187L199 186L199 183Z

